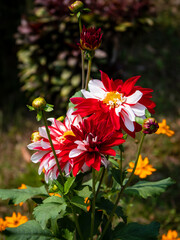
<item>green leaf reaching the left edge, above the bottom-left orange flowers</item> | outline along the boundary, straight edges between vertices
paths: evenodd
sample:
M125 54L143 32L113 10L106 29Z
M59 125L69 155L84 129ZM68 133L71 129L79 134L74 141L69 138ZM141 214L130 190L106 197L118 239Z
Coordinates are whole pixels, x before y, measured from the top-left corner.
M26 187L27 189L0 189L0 198L2 200L11 199L13 204L19 204L34 196L49 196L44 186Z

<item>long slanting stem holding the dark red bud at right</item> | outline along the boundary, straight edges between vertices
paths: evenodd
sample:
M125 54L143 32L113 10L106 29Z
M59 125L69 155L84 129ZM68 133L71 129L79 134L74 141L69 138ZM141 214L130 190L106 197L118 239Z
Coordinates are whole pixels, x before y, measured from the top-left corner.
M110 224L110 222L112 221L113 215L114 215L114 213L115 213L115 211L116 211L116 208L117 208L117 206L118 206L119 200L120 200L120 198L121 198L124 190L125 190L126 187L130 184L130 182L132 181L132 179L133 179L133 177L134 177L134 172L135 172L136 167L137 167L137 163L138 163L139 155L140 155L140 153L141 153L141 149L142 149L142 144L143 144L143 141L144 141L144 137L145 137L145 134L142 133L141 141L140 141L139 148L138 148L138 152L137 152L137 155L136 155L136 161L135 161L135 165L134 165L133 171L132 171L132 173L131 173L128 181L126 182L126 184L125 184L124 186L122 186L121 191L120 191L119 194L118 194L118 197L117 197L116 202L115 202L115 204L114 204L114 207L113 207L113 210L112 210L112 212L111 212L111 215L109 216L109 219L108 219L108 221L107 221L107 223L106 223L106 225L105 225L105 227L104 227L104 230L103 230L102 235L101 235L101 237L100 237L99 240L102 240L104 234L106 233L106 231L107 231L107 229L108 229L108 227L109 227L109 224Z

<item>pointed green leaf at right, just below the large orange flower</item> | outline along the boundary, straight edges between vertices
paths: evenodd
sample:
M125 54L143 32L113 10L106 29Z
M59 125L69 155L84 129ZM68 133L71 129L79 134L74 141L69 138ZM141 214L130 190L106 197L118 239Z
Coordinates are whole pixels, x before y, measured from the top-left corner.
M166 188L174 183L171 178L156 182L139 181L135 185L127 187L125 192L147 198L165 192Z

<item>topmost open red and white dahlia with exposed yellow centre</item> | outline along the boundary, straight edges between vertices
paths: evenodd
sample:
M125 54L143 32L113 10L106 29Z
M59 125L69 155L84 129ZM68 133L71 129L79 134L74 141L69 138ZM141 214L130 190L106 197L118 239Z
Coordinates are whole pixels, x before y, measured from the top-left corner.
M140 76L132 77L123 82L120 79L110 79L101 72L101 80L90 80L89 91L81 90L84 98L71 98L76 104L74 114L82 117L92 114L94 119L108 119L116 130L123 129L130 136L141 126L135 122L135 117L145 118L145 110L154 113L155 103L151 100L152 89L134 86Z

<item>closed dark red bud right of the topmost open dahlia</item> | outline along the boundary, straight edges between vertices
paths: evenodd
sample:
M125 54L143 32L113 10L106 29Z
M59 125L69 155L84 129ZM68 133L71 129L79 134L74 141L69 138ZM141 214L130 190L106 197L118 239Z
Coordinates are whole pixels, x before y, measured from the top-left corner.
M147 118L144 120L142 125L142 132L145 134L152 134L159 128L158 122L155 118Z

